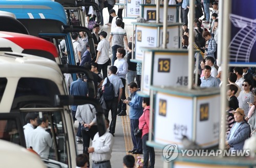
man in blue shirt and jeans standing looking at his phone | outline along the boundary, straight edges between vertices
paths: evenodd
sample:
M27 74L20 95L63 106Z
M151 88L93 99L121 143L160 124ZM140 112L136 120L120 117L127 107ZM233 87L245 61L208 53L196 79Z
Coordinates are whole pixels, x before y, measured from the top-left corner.
M134 136L134 130L139 126L139 118L143 113L142 101L137 91L139 91L138 85L135 82L131 82L129 85L129 90L133 93L133 98L131 101L124 100L123 103L130 106L130 123L131 123L131 135L133 141L133 150L128 151L133 154L142 154L142 140Z

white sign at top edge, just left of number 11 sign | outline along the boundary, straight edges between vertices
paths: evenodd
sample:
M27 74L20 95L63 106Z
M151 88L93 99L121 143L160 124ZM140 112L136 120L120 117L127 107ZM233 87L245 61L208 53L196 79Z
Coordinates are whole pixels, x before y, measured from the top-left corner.
M127 0L126 1L126 17L140 16L141 0Z

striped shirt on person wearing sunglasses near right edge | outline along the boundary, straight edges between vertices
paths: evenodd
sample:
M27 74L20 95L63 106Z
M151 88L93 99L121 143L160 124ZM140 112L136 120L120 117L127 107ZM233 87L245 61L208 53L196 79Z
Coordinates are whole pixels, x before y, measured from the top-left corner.
M250 106L247 102L253 103L254 102L254 95L251 91L248 92L248 93L245 93L242 90L239 93L239 96L238 96L238 104L239 104L239 107L244 110L245 116L248 115L248 112L249 112L249 109L250 109Z

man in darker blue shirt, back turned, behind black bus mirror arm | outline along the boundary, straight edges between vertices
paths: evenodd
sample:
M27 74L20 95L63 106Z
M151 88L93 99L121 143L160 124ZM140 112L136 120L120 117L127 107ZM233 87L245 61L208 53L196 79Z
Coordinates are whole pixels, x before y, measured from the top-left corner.
M87 86L87 82L84 82L82 80L82 75L81 74L76 74L78 79L74 82L71 83L70 85L70 95L84 95L85 97L87 97L87 92L88 92L88 86ZM73 116L73 120L74 122L76 121L76 109L77 106L71 106L71 110L72 110L72 116ZM77 139L76 141L78 143L82 143L82 133L81 133L81 124L79 123L78 126L78 130L77 130Z

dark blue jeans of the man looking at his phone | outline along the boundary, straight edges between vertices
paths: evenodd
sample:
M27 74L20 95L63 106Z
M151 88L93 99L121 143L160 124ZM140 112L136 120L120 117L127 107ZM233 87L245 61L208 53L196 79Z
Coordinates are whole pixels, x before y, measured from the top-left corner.
M134 136L134 130L139 126L139 119L130 119L133 150L142 151L142 140Z

